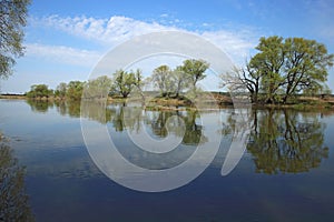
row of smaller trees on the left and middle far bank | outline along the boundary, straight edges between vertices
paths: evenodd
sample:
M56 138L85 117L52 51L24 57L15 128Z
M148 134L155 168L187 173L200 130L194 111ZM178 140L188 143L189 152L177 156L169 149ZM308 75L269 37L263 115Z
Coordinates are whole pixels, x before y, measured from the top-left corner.
M186 90L196 90L197 82L206 77L205 71L208 68L208 62L204 60L188 59L175 69L166 64L159 65L148 78L144 78L139 69L118 70L111 78L101 75L87 82L61 82L56 90L49 89L47 84L33 84L26 95L31 99L56 97L80 100L85 89L85 98L98 99L106 94L128 98L131 92L140 94L144 93L145 85L151 85L159 91L160 97L179 98Z

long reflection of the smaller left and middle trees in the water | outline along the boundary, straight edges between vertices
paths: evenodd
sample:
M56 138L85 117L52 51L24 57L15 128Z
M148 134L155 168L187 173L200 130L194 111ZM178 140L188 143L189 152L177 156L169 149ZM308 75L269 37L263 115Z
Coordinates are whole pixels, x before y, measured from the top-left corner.
M84 118L98 121L102 124L112 123L116 131L135 130L139 131L141 123L149 125L155 135L166 138L168 133L183 137L184 144L198 144L207 139L202 133L202 125L196 122L197 111L144 111L141 107L127 107L126 103L106 105L102 101L65 101L56 100L53 103L47 101L30 101L31 109L40 109L56 105L61 115ZM82 112L80 109L82 108ZM173 117L178 118L173 118ZM166 128L166 123L170 128ZM184 122L184 124L183 124ZM184 129L185 127L185 129Z

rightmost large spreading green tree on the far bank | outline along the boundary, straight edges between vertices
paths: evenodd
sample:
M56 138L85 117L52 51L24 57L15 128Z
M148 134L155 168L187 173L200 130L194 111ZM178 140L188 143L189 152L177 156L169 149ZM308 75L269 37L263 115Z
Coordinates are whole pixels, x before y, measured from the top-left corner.
M327 80L327 69L333 67L334 54L328 54L324 44L315 40L288 38L284 51L284 102L298 92L318 93L326 88L324 82Z

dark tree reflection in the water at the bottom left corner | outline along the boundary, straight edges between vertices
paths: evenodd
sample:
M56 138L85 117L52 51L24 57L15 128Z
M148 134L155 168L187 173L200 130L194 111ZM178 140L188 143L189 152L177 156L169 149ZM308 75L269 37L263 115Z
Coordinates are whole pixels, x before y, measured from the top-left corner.
M35 221L24 193L24 169L0 134L0 221Z

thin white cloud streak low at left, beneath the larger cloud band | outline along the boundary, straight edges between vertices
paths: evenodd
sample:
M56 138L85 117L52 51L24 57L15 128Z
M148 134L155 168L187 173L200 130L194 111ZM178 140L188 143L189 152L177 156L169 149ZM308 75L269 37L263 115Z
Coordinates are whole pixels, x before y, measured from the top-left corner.
M62 46L46 46L31 43L26 46L27 57L39 57L47 61L75 64L80 67L92 67L101 57L96 51L73 49Z

